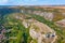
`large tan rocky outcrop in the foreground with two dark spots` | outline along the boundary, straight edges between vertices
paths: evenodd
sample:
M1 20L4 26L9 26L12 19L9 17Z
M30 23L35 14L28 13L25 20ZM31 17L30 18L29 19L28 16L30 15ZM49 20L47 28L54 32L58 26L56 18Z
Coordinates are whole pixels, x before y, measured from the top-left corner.
M30 37L32 39L36 39L38 43L54 43L56 39L55 31L47 25L39 22L36 22L31 25L29 33Z

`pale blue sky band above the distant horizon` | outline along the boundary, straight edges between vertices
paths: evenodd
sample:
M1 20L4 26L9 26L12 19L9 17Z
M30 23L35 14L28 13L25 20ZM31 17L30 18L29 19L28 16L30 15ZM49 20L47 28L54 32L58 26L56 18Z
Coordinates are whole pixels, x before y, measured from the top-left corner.
M0 0L0 5L55 5L65 4L65 0Z

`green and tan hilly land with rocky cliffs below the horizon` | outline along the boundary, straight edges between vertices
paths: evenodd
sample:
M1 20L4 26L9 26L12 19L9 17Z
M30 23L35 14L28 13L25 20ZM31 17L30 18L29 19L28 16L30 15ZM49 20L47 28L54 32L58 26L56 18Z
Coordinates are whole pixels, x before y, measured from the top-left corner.
M64 6L0 9L0 43L64 43Z

